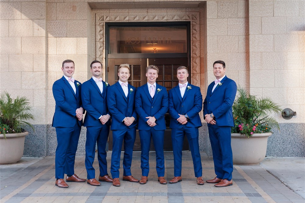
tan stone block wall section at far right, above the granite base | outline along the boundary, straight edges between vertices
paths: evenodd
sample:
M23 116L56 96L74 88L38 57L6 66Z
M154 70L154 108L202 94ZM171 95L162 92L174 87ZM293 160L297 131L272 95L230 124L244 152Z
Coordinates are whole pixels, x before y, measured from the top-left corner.
M269 96L304 123L304 1L249 1L250 93Z

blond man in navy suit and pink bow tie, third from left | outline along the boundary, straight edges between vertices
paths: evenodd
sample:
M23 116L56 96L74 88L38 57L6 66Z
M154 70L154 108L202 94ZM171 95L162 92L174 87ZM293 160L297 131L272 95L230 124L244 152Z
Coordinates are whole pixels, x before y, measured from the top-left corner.
M135 112L134 86L128 84L130 68L128 64L121 64L118 69L119 81L109 87L107 102L109 111L112 114L112 136L113 148L111 155L111 175L113 186L120 186L120 156L124 140L123 158L123 180L139 182L131 175L132 151L135 144L137 114Z

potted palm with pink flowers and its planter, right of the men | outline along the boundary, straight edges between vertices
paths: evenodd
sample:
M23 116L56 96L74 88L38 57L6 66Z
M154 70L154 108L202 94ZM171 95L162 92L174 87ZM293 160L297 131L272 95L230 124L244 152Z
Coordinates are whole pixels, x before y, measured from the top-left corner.
M269 97L257 98L239 87L233 103L234 127L231 130L233 164L257 165L264 160L271 129L278 128L278 121L271 113L282 109Z

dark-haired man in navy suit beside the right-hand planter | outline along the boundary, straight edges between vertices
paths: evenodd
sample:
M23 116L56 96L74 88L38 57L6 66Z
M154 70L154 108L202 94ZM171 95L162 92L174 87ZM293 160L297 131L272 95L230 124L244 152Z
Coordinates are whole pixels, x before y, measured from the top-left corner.
M225 75L224 61L215 61L213 72L216 80L207 89L203 102L203 115L209 129L216 177L206 180L216 187L233 184L233 156L231 128L234 127L232 105L236 96L236 83Z

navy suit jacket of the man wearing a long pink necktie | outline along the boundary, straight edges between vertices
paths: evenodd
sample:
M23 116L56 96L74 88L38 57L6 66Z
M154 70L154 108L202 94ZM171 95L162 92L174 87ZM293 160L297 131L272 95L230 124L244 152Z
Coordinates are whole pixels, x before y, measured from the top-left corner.
M160 92L157 89L161 89ZM165 130L165 117L168 110L168 95L166 88L156 84L156 92L152 98L148 91L147 83L138 87L137 93L135 95L135 110L139 115L138 129L139 130L150 130L154 128L155 130ZM145 117L154 116L156 120L156 125L150 127L146 121Z

